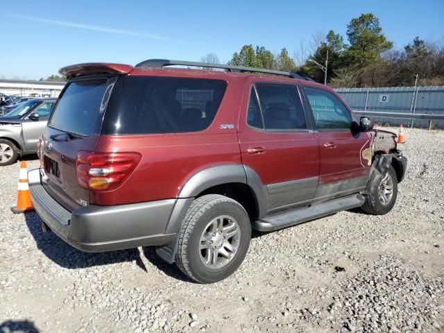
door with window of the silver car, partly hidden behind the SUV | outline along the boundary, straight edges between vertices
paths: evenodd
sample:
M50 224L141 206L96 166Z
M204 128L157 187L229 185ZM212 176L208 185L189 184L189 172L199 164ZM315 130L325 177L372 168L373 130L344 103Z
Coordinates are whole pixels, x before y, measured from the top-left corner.
M23 137L25 142L26 151L37 151L37 143L40 135L46 128L46 123L51 114L55 101L45 101L37 106L32 113L39 115L38 120L26 119L22 124Z

